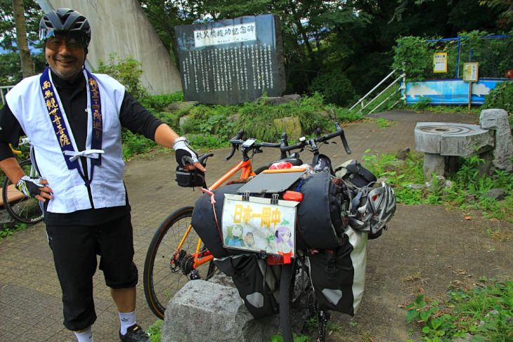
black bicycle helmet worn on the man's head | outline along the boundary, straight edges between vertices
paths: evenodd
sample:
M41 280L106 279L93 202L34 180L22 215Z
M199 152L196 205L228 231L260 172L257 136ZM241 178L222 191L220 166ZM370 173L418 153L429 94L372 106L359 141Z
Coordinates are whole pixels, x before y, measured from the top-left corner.
M84 49L91 41L91 26L84 15L70 8L58 8L43 15L39 22L39 39L46 41L56 33L77 33L84 41Z

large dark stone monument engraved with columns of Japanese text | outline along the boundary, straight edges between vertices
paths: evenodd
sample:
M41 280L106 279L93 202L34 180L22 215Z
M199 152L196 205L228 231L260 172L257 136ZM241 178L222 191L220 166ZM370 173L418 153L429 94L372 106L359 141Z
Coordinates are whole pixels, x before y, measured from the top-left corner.
M233 105L285 91L277 15L180 25L176 37L186 101Z

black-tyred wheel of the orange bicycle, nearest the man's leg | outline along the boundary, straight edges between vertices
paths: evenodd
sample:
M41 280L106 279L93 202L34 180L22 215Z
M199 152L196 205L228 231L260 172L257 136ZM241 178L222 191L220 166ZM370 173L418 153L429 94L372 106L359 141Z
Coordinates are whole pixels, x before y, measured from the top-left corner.
M161 319L164 318L169 299L190 280L193 273L190 254L195 253L199 239L193 229L183 242L181 251L184 251L184 258L181 262L174 258L192 216L193 206L185 206L171 213L160 224L148 247L144 263L144 294L152 313ZM171 261L174 261L174 269L171 269ZM209 279L214 275L215 266L210 261L196 270L200 279Z

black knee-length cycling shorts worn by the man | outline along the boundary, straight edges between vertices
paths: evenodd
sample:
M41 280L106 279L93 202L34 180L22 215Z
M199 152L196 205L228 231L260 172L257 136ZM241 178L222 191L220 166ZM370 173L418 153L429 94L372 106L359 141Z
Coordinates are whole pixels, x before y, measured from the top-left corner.
M96 320L93 275L97 256L108 287L136 286L138 274L130 214L100 225L46 225L46 233L63 291L67 329L86 329Z

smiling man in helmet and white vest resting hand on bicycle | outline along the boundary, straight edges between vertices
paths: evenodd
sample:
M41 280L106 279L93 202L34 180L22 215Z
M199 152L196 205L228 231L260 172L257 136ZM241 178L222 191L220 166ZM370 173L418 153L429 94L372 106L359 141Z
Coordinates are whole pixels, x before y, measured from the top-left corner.
M79 342L93 341L93 275L97 255L117 310L122 341L150 341L136 324L130 205L123 183L121 129L173 147L178 164L204 167L169 126L153 117L122 84L84 67L88 20L59 8L39 25L48 67L6 95L0 110L0 168L18 190L44 206L48 244L63 291L64 325ZM32 143L41 178L25 176L8 143Z

